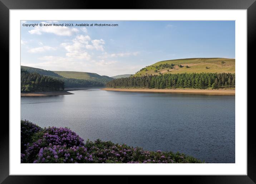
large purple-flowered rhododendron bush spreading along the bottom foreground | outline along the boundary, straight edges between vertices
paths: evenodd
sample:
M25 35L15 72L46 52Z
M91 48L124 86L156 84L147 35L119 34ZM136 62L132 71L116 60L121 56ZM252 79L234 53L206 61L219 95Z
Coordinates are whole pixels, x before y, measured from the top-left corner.
M110 141L83 142L68 128L40 129L32 136L22 163L202 163L181 153L146 151Z

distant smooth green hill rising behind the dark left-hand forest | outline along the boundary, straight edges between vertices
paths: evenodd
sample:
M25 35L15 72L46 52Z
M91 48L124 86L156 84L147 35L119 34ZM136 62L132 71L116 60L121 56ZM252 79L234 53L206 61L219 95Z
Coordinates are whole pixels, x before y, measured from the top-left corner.
M113 80L113 78L108 76L100 76L97 73L89 73L89 72L74 72L74 71L53 71L56 74L66 77L66 78L75 78L75 79L83 79L90 81L100 81L100 82L108 82Z

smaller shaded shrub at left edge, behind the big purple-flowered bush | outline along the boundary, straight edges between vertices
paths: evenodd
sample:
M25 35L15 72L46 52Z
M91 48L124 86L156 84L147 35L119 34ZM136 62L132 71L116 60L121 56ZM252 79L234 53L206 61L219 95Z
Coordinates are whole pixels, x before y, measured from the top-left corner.
M31 123L26 120L21 120L21 128L20 128L20 147L21 153L23 153L26 149L27 144L31 141L32 136L41 131L41 127L37 126L34 123Z

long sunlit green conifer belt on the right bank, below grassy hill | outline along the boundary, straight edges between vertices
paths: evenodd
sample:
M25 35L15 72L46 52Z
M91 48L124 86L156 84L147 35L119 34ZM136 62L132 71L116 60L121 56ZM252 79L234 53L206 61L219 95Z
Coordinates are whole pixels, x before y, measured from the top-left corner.
M118 78L106 84L108 88L233 88L235 73L177 73Z

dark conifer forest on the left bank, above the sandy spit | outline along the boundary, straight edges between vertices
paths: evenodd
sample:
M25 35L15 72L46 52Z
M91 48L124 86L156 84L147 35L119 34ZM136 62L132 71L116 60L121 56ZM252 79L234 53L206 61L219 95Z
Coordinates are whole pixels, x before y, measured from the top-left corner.
M21 92L61 91L64 82L39 73L30 73L21 70Z

